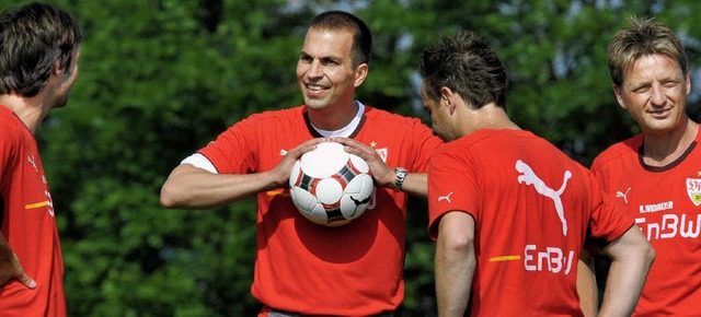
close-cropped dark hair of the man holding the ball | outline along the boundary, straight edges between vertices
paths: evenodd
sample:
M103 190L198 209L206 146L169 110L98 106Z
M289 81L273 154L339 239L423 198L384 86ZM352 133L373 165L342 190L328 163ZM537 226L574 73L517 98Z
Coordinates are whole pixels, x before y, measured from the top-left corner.
M312 20L309 30L350 30L353 31L353 66L370 63L372 34L363 20L344 11L326 11Z

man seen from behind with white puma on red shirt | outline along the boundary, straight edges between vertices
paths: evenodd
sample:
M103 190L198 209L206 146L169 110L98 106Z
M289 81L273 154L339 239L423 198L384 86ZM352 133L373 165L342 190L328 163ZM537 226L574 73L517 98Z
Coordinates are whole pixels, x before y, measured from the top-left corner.
M582 316L577 261L587 231L613 265L601 314L637 302L654 251L594 175L506 113L506 68L485 38L461 32L423 56L422 98L445 141L428 167L438 313Z

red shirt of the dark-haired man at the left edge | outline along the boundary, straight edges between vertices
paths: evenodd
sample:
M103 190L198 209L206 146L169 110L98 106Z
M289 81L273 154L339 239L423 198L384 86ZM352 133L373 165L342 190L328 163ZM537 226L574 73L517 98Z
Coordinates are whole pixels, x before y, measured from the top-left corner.
M2 234L34 290L16 279L0 287L0 316L66 316L64 258L36 140L0 105Z

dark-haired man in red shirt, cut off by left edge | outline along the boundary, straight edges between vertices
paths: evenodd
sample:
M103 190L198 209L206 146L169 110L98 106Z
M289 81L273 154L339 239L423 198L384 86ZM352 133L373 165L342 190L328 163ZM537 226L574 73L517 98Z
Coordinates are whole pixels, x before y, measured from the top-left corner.
M0 316L66 316L64 259L34 131L66 105L82 34L32 3L0 13Z

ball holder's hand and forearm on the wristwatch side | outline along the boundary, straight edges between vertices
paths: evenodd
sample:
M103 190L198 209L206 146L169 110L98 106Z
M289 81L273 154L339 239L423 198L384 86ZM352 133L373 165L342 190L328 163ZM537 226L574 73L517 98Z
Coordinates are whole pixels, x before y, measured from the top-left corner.
M356 140L348 138L331 138L331 141L346 145L346 152L355 154L368 163L368 166L370 166L370 174L375 180L375 186L394 188L397 173L394 173L393 167L402 166L388 166L384 161L380 158L380 155L377 154L375 149ZM428 195L427 179L428 177L426 173L409 173L404 178L402 191L421 198L426 198Z

